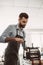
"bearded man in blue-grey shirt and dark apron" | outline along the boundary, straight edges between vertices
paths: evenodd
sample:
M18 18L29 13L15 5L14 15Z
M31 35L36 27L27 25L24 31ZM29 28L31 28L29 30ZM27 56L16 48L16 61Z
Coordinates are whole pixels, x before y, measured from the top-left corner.
M25 48L25 28L28 22L28 14L20 13L17 25L9 25L8 28L0 36L0 42L8 42L5 50L4 65L20 65L18 58L18 51L20 44Z

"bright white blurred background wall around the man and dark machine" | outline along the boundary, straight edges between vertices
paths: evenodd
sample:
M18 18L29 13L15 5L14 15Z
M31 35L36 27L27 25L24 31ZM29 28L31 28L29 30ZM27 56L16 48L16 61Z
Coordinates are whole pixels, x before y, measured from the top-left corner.
M18 23L21 12L29 15L24 29L26 45L31 47L33 43L33 46L39 47L41 52L43 49L43 0L0 0L0 36L8 25ZM0 56L4 54L6 47L6 43L0 43ZM22 46L19 53L23 53Z

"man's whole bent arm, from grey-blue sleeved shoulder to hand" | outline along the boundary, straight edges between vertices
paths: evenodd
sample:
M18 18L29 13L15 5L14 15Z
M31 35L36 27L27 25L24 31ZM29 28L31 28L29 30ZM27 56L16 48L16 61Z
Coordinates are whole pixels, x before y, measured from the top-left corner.
M15 30L15 29L14 29ZM12 32L12 25L8 26L7 29L3 32L3 34L0 36L0 42L5 43L5 42L11 42L11 41L17 41L18 43L23 43L24 40L21 38L17 37L11 37L11 32Z

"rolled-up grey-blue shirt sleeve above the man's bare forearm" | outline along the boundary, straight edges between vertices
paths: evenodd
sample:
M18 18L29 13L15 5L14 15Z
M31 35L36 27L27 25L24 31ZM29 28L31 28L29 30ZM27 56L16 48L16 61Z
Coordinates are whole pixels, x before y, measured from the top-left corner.
M10 31L11 31L11 25L9 25L0 36L0 42L5 43L5 39L6 37L9 37Z

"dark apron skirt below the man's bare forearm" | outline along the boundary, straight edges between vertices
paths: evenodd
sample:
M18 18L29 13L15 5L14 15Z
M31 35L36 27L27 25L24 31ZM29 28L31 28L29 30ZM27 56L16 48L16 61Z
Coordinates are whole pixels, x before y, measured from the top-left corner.
M4 65L20 65L18 58L19 46L17 42L10 42L5 50Z

